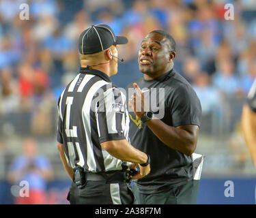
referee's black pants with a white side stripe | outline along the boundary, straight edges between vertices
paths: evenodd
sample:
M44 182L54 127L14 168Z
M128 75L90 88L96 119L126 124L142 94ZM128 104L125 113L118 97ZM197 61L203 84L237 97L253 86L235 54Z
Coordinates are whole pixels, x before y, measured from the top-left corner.
M70 204L136 204L136 199L128 183L106 183L87 181L83 189L74 183L70 187Z

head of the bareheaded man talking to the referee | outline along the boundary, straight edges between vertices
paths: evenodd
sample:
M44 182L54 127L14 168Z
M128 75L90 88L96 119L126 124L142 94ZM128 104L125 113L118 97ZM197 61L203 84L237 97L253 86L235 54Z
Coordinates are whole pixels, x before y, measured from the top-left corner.
M173 68L175 41L162 30L150 32L141 42L139 49L139 70L150 78L157 78Z

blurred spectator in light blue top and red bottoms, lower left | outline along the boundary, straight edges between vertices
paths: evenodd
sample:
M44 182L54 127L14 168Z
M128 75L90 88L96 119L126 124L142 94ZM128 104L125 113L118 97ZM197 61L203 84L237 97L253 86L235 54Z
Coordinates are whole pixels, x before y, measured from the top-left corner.
M38 144L33 138L23 142L23 155L17 157L8 178L12 184L20 181L29 183L29 197L17 197L16 204L46 204L46 185L53 175L51 165L46 157L37 154Z

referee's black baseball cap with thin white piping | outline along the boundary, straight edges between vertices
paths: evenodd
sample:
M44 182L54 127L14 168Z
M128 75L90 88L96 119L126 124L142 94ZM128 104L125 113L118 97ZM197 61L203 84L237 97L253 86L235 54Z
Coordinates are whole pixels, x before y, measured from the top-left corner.
M91 55L112 45L127 44L127 42L126 37L115 35L108 25L92 25L79 37L79 52L82 55Z

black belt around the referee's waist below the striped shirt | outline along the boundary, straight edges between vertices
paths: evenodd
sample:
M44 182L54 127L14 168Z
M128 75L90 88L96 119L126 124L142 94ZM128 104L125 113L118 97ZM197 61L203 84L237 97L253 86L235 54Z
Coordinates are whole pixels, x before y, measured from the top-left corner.
M125 172L116 171L116 172L85 172L86 181L105 181L105 182L125 182Z

